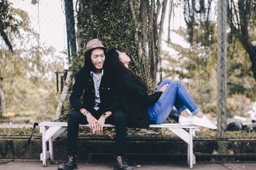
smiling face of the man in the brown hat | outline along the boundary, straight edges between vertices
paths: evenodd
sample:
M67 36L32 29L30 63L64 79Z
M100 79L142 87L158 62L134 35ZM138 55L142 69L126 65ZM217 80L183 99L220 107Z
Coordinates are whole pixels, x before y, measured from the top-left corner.
M95 67L97 71L101 71L105 61L104 50L102 50L102 48L92 50L91 59L93 67Z

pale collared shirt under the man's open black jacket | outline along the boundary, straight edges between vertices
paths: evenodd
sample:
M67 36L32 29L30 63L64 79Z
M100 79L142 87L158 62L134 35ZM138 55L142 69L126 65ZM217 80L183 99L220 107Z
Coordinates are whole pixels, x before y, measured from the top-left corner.
M91 71L91 75L92 75L92 78L93 78L93 83L94 83L94 89L95 89L95 106L94 106L94 109L95 110L99 110L99 105L100 105L100 81L101 81L101 78L103 76L103 69L101 71L100 74L95 74Z

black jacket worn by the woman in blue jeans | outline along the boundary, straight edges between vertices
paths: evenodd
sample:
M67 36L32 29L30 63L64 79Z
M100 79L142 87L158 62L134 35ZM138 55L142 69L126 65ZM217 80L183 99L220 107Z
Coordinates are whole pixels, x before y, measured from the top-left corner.
M156 103L161 94L155 92L149 95L131 74L122 74L116 83L113 111L123 110L127 114L129 127L148 128L148 106Z

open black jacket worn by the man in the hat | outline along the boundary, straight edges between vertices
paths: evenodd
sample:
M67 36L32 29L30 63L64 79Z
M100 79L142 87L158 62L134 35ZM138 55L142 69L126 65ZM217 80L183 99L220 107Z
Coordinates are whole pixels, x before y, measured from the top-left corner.
M104 69L102 80L100 81L100 106L102 113L112 111L113 105L113 81L109 72ZM83 99L81 101L81 96ZM81 108L92 113L95 106L95 89L92 75L84 67L76 74L76 81L70 95L70 104L74 110L79 111Z

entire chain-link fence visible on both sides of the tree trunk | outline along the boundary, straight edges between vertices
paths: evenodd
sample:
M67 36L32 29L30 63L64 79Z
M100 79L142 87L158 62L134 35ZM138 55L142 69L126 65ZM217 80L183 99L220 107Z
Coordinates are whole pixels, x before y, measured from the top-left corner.
M74 23L72 20L70 21L68 15L74 13L76 18L79 1L74 2L75 10L68 15L65 15L68 11L65 8L68 1L10 2L13 3L12 13L17 19L16 22L22 21L22 24L19 26L19 32L9 31L10 34L7 32L14 53L8 52L8 46L4 43L3 37L1 38L0 76L2 79L0 87L4 94L1 104L5 104L2 120L28 123L52 120L67 73L64 69L67 69L68 59L76 53L77 49L74 47L74 29L71 27ZM255 36L255 32L250 27L255 23L253 8L250 8L252 11L250 16L254 16L254 18L250 18L253 23L247 27L247 38L247 34L244 32L241 32L240 36L236 34L237 31L243 31L243 29L236 30L238 27L234 25L237 24L236 16L238 15L234 8L237 10L240 8L238 8L239 4L233 1L228 1L227 4L228 9L233 6L233 10L228 10L227 27L223 29L224 33L227 32L227 38L223 34L217 33L220 25L217 17L217 1L212 2L209 13L205 15L196 13L195 17L198 17L196 23L198 24L193 27L193 38L188 38L191 34L184 22L183 15L184 8L188 8L188 6L184 7L182 3L175 4L175 1L168 2L173 2L173 4L170 4L166 11L172 8L174 12L169 11L172 14L169 15L169 17L172 16L169 21L172 36L169 40L163 38L169 42L162 43L163 62L161 66L164 77L182 81L200 109L215 124L220 117L217 104L221 103L223 104L223 106L219 105L223 109L221 114L224 118L227 116L224 123L237 122L235 124L242 129L246 129L246 127L252 129L253 124L251 127L246 124L251 124L253 117L246 113L252 109L252 105L256 101L255 78L253 78L252 72L252 67L255 65L252 65L251 61L255 58L253 58L255 52L251 50L252 53L249 53L251 52L250 48L253 49L253 45L255 48L255 42L250 41ZM200 9L199 4L195 4L195 6L196 8L193 10ZM205 9L206 7L205 3ZM221 5L221 8L225 11L224 5ZM244 6L245 8L246 6ZM223 17L223 15L221 16ZM168 17L165 20L167 22ZM189 18L187 18L188 21ZM180 22L184 24L180 24ZM234 27L232 27L232 22L234 22ZM177 27L179 25L177 23L181 27ZM164 35L167 34L167 30L168 24L164 27ZM250 41L251 46L244 45L241 35ZM222 39L222 41L227 39L227 45L219 43L218 39ZM166 47L164 48L164 46ZM227 50L227 66L225 66L225 60L220 60L220 64L226 68L218 64L218 55L221 55L218 49L222 49L224 53ZM223 58L220 57L220 59ZM218 69L220 70L218 71ZM224 78L222 88L220 88L218 87L218 82L220 82L218 73L224 74L225 69L227 75L220 76ZM227 77L227 83L225 83L225 77ZM226 85L227 91L225 90ZM225 113L225 96L218 97L220 89L224 90L222 94L227 94L227 113ZM59 95L56 95L57 93ZM255 110L250 113L253 115ZM239 123L239 121L241 122ZM209 131L209 135L216 137L216 132ZM232 136L232 134L230 135ZM246 135L248 134L243 134L243 136ZM237 138L241 138L241 136Z

